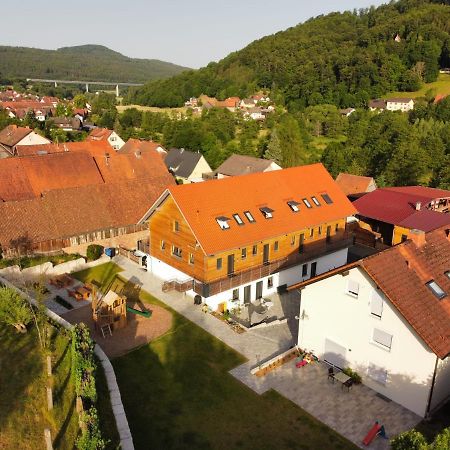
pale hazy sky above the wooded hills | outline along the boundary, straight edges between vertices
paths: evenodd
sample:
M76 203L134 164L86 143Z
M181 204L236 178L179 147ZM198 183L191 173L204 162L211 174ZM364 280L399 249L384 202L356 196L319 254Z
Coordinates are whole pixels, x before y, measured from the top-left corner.
M56 49L101 44L134 58L199 68L310 17L386 0L20 0L0 45ZM19 7L20 5L20 7Z

